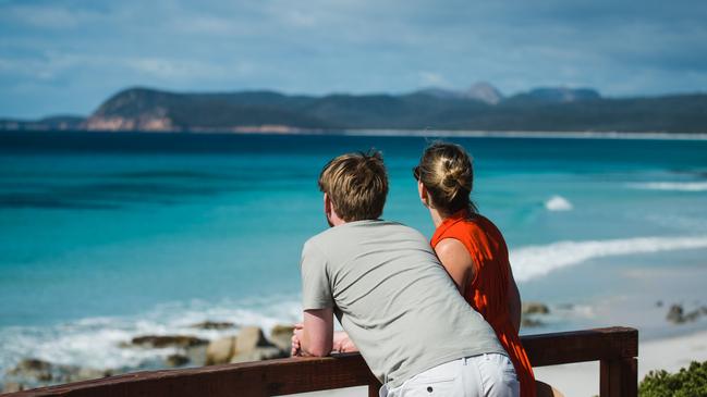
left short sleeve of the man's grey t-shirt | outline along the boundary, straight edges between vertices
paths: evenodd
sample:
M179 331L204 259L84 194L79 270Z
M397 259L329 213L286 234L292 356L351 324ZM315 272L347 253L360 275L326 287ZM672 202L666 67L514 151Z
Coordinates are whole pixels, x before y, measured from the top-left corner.
M312 241L307 241L302 249L300 268L302 271L302 309L333 308L327 258Z

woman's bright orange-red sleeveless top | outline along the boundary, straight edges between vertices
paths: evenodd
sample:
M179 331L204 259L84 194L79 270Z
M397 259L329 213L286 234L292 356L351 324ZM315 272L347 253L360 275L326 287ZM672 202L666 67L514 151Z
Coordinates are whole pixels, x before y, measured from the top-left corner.
M505 348L521 383L522 397L535 397L535 375L521 338L513 328L508 308L511 264L501 232L491 221L460 211L446 219L432 236L436 247L444 238L460 240L474 261L474 280L464 290L464 299L486 319Z

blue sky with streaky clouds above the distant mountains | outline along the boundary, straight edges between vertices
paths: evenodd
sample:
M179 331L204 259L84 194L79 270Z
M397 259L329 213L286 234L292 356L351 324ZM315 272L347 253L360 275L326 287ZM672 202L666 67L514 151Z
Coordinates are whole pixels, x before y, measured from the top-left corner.
M0 116L179 91L707 91L707 1L0 0Z

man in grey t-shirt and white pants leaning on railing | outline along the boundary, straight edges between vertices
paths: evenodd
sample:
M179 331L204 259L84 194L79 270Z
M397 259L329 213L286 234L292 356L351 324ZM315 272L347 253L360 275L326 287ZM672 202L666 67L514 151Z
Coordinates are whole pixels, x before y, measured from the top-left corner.
M493 330L459 294L425 237L379 219L388 194L380 153L331 160L319 188L331 227L303 248L304 325L295 330L294 352L345 350L345 335L334 346L336 313L383 383L381 396L517 396L513 364Z

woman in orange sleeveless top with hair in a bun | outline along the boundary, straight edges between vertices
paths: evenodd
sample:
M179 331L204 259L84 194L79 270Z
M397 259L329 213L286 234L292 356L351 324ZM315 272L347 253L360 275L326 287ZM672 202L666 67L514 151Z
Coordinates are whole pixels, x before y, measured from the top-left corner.
M519 337L521 299L501 232L470 199L474 171L458 145L434 144L414 169L419 198L437 227L431 245L466 301L493 327L513 361L522 397L535 397L533 368Z

